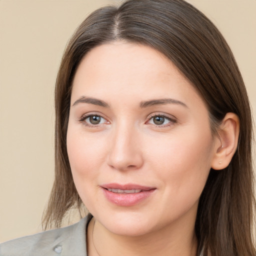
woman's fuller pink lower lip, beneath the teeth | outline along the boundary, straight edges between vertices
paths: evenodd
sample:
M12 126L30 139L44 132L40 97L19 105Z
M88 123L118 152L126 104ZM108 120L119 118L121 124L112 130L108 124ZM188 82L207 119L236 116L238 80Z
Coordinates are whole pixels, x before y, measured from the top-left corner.
M114 193L108 191L105 188L103 189L103 193L105 197L112 203L117 204L119 206L133 206L135 204L140 203L141 201L148 198L155 189L150 190L142 190L138 193Z

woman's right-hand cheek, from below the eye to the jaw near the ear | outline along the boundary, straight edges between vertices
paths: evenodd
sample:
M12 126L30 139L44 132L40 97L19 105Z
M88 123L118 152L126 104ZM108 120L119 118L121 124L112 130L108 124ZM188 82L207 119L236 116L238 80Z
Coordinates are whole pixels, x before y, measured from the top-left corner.
M150 147L148 159L166 188L166 197L171 194L176 195L177 201L183 198L193 202L200 196L213 152L211 133L205 130L191 128L189 132L158 140L157 145Z

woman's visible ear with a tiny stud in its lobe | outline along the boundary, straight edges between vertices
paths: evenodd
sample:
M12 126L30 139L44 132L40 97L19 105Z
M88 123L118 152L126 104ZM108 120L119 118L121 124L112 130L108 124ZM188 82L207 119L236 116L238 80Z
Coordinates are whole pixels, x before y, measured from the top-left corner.
M238 116L235 113L227 113L217 133L211 168L220 170L228 166L236 151L239 136Z

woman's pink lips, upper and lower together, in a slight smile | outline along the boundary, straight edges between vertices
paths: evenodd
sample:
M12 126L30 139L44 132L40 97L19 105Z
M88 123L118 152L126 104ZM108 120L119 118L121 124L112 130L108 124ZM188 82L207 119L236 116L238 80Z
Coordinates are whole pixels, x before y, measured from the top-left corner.
M147 199L155 191L155 187L143 186L139 184L118 184L118 183L108 183L101 185L103 194L108 201L119 206L133 206L145 199ZM139 189L140 192L136 193L118 193L112 192L108 189L121 189L121 190L133 190Z

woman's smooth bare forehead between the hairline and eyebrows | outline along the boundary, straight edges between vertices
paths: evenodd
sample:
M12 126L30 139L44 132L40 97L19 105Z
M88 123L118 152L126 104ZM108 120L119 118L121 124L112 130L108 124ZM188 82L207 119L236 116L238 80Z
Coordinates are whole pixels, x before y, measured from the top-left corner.
M81 60L73 80L71 102L79 96L145 100L166 97L200 99L192 84L162 53L123 41L102 44ZM113 98L112 98L113 99Z

